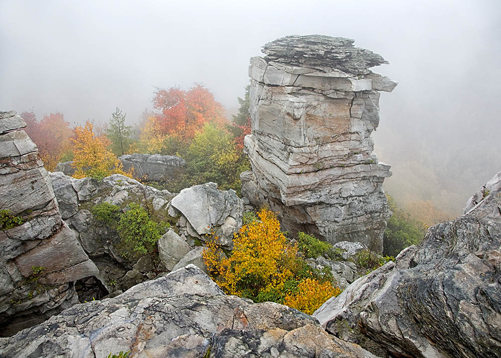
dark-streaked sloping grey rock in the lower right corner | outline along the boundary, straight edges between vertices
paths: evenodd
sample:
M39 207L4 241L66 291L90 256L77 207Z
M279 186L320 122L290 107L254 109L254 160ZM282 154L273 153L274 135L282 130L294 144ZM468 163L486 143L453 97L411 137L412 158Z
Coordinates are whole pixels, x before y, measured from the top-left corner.
M456 220L350 285L315 313L327 331L373 352L501 356L501 172Z

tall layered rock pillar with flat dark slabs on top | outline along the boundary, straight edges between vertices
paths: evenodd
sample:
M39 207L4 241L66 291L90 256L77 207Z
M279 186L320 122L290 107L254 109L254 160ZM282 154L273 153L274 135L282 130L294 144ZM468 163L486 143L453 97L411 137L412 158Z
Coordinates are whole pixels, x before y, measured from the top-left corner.
M250 59L252 134L242 194L279 211L289 231L382 250L390 217L370 137L379 124L379 91L396 82L368 70L387 63L353 40L288 36Z

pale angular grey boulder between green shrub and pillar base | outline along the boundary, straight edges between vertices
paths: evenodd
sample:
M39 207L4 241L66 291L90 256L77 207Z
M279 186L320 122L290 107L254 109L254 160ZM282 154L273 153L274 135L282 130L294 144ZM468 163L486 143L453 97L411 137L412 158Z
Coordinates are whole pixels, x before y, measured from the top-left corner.
M215 183L183 189L169 203L169 215L179 217L181 233L205 241L213 231L227 248L242 225L242 213L243 202L235 191L218 190Z

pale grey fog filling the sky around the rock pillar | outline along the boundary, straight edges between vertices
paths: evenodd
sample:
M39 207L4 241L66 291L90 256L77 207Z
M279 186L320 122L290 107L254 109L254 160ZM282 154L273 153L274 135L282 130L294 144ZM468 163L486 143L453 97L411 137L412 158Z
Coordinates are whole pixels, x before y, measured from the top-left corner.
M501 170L501 2L0 2L0 110L60 111L70 123L128 120L156 87L202 83L228 111L251 56L287 35L355 39L390 62L379 159L400 200L457 215Z

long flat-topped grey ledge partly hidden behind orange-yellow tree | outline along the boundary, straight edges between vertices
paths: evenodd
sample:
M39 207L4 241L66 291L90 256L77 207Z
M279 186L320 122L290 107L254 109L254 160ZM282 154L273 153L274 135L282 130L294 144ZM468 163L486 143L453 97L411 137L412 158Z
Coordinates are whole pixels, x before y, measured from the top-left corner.
M130 172L137 180L169 183L186 173L186 162L183 158L175 155L160 154L125 154L118 158L122 163L123 170ZM65 161L56 165L56 171L62 171L66 175L73 175L75 168L72 161Z

